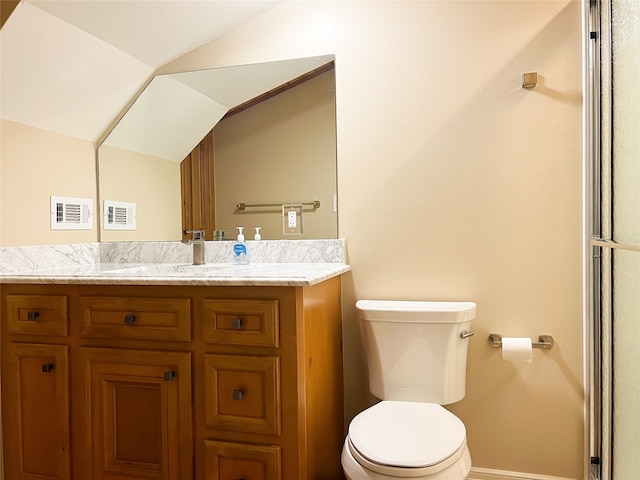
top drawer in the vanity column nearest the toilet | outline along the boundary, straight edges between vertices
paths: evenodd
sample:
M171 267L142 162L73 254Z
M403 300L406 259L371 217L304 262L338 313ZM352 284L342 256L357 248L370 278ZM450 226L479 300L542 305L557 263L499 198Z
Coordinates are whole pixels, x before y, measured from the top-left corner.
M203 300L204 341L279 345L278 300Z

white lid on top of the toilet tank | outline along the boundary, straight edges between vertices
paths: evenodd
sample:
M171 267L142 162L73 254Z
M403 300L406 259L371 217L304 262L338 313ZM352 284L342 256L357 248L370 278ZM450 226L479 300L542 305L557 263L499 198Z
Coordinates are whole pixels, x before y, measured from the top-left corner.
M356 309L372 322L463 323L476 316L474 302L358 300Z

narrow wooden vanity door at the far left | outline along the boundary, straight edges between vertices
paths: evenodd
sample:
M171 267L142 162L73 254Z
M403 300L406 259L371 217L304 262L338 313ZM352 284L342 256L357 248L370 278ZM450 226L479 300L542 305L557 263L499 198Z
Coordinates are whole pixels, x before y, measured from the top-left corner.
M6 478L68 480L67 347L10 343L5 358L2 403Z

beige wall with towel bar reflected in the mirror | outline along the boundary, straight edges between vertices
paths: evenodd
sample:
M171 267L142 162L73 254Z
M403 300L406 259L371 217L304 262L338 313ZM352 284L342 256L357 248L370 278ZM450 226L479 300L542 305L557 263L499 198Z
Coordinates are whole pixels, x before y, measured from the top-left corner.
M262 227L265 240L336 238L335 77L319 75L266 102L216 125L216 229L235 238L236 226L253 239ZM244 203L320 201L303 210L302 235L284 235L282 211L252 208Z

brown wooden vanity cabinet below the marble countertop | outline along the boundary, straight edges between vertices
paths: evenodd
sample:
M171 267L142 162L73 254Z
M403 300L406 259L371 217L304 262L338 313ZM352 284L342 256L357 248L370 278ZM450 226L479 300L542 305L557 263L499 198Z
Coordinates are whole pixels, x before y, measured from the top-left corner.
M2 286L6 478L342 479L340 278Z

